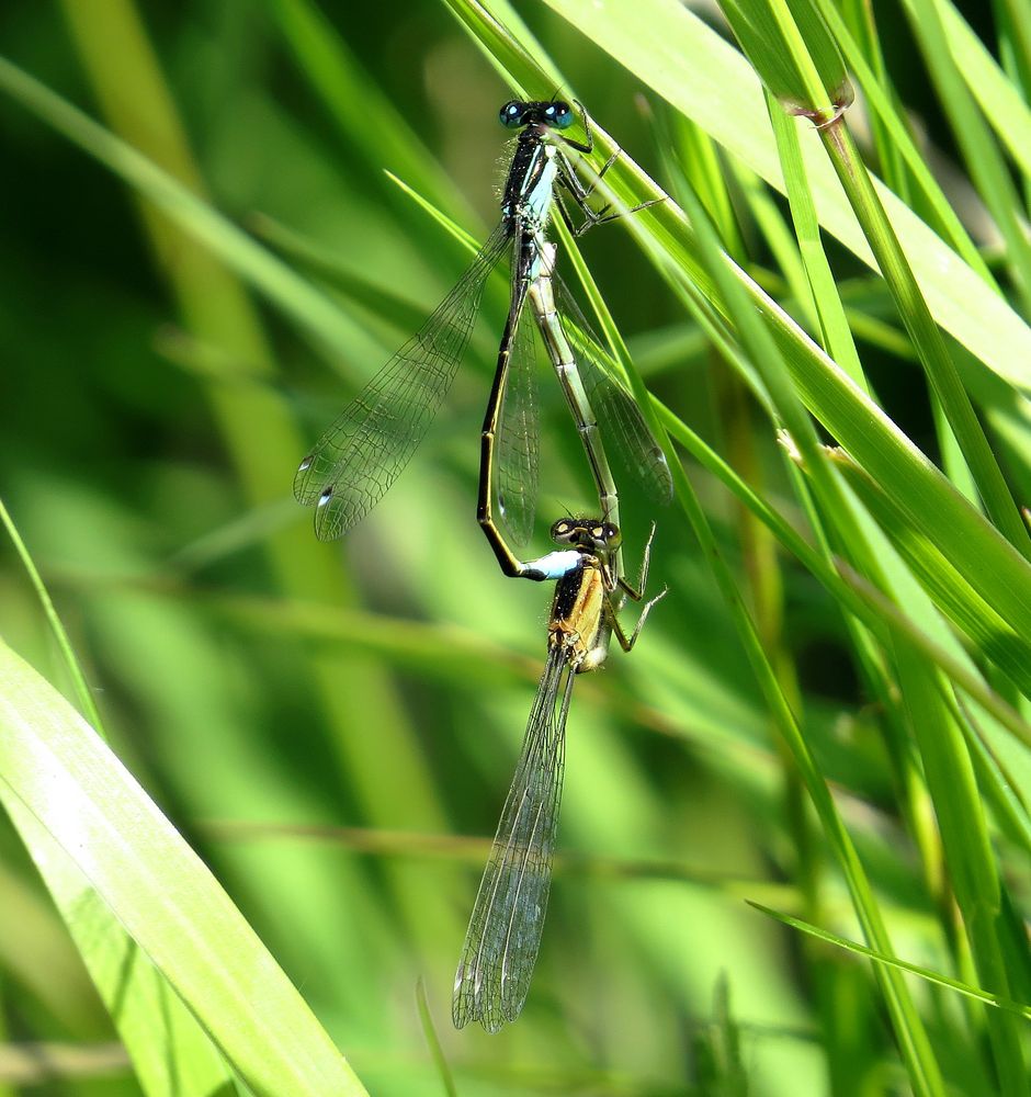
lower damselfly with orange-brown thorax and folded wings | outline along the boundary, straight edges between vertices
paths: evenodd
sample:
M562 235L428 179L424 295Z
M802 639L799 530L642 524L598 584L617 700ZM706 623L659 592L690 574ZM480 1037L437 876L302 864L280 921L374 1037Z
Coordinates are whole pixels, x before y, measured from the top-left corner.
M627 636L616 609L623 595L635 601L644 597L652 536L637 587L614 572L620 530L603 520L560 519L552 538L573 547L523 564L534 578L557 579L547 661L455 973L452 1017L457 1028L478 1020L497 1032L519 1016L525 1002L547 909L573 683L604 661L612 635L628 652L649 610L665 596L664 589L645 603Z

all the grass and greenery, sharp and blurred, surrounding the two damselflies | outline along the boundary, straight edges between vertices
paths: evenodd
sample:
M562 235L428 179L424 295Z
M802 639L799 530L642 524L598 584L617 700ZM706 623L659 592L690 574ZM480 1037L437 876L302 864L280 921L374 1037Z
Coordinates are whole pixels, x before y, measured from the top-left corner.
M1023 1093L1031 35L726 8L747 59L661 0L23 16L0 276L46 310L8 317L0 427L0 1025L55 1092ZM845 71L830 126L783 112L827 122ZM342 546L287 495L461 271L450 227L483 239L497 105L555 88L625 150L607 196L664 197L560 262L677 497L626 501L670 595L578 686L541 962L491 1038L451 984L548 597L474 520L500 283ZM540 552L590 506L542 393ZM87 1081L113 1037L132 1074Z

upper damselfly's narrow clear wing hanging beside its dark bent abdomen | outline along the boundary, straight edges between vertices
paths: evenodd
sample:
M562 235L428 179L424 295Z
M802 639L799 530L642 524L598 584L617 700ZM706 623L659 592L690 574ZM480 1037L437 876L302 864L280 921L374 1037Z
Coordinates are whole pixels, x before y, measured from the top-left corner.
M535 325L522 309L516 327L498 422L498 504L511 542L524 545L537 506L537 371Z

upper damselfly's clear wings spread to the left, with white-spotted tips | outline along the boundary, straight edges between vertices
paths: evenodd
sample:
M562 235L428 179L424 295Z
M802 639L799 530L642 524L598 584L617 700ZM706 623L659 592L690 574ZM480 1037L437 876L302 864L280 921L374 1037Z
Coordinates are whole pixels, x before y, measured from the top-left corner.
M383 366L301 462L294 496L317 504L320 541L341 536L383 498L422 441L454 380L487 276L505 252L490 235L437 312Z

